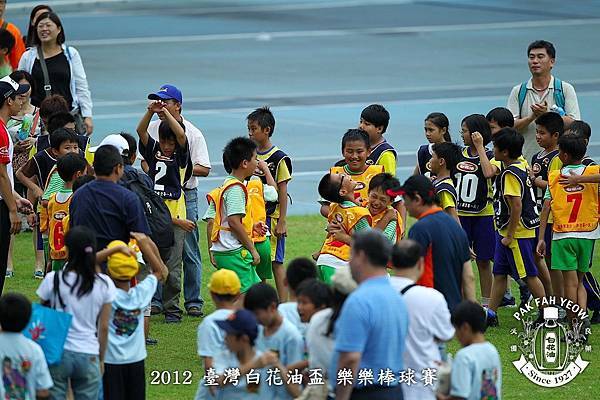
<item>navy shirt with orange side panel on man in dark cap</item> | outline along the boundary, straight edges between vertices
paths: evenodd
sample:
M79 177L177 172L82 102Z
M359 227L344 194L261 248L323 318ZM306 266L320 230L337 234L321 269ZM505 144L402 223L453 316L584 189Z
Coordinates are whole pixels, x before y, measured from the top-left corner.
M441 208L425 213L408 231L408 237L423 248L423 286L442 292L452 311L462 301L463 265L471 259L467 234Z

